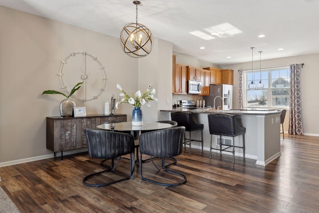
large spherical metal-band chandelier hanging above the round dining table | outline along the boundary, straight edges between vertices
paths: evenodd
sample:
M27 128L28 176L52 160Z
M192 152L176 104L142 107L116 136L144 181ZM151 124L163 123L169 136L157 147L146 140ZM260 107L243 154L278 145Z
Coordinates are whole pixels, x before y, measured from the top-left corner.
M153 46L153 35L149 28L138 23L138 5L141 1L135 0L136 23L126 24L120 35L121 47L123 51L133 57L141 58L149 55Z

